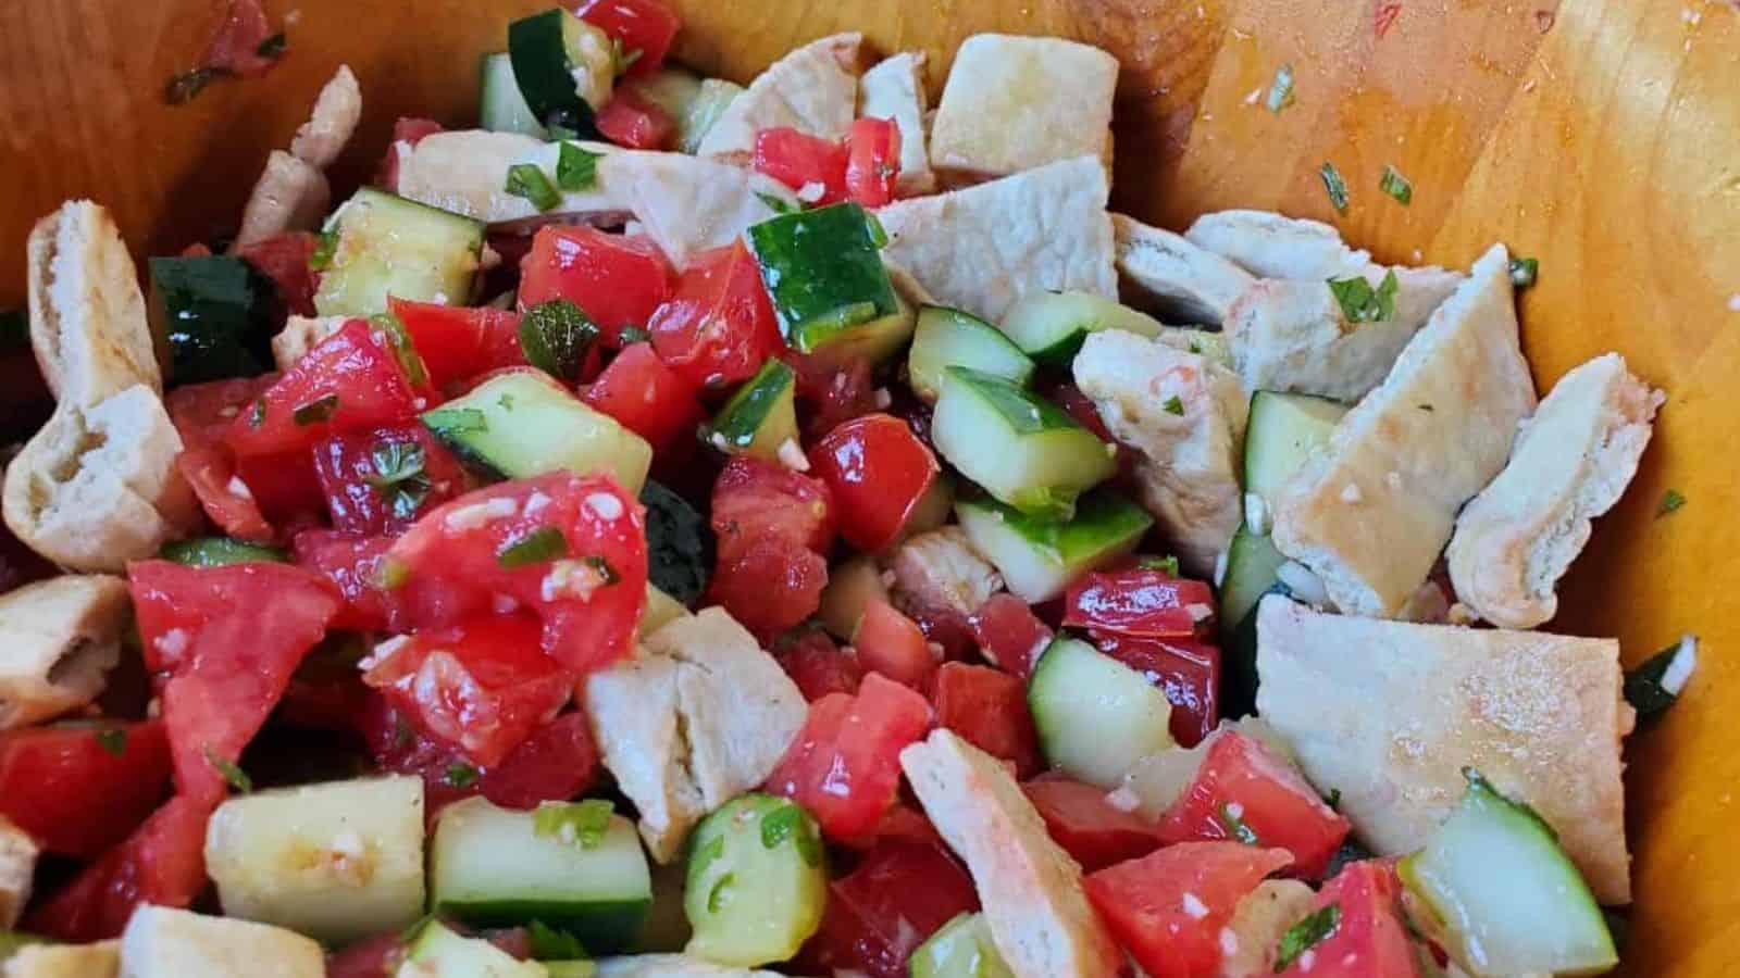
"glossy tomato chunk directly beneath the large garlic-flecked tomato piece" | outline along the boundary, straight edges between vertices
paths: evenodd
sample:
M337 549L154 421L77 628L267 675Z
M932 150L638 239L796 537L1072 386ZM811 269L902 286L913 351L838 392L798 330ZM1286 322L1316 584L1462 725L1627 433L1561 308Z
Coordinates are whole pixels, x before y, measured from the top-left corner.
M433 738L482 766L499 764L555 719L574 677L539 647L531 614L491 614L397 642L364 682Z

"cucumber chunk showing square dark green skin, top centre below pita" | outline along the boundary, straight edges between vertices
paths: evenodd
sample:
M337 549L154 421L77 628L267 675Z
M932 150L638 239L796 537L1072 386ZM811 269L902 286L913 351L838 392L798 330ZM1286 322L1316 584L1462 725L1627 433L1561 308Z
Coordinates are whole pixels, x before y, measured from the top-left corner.
M844 341L840 334L900 313L870 221L863 207L835 204L750 228L750 249L780 329L799 353Z

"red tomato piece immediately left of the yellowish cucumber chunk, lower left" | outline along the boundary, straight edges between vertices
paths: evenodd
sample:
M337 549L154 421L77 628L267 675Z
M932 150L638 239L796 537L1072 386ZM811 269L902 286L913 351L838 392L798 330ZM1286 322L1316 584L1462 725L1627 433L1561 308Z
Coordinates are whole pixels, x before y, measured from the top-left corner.
M188 907L205 889L205 821L214 804L169 799L125 842L44 900L24 929L63 941L120 936L141 903Z

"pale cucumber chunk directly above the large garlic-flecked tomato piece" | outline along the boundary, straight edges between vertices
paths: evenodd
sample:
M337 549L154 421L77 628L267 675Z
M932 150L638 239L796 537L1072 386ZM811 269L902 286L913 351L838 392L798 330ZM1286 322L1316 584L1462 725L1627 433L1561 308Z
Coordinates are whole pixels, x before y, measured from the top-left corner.
M499 479L604 472L639 494L652 465L646 439L534 369L496 374L425 411L423 425L473 468Z

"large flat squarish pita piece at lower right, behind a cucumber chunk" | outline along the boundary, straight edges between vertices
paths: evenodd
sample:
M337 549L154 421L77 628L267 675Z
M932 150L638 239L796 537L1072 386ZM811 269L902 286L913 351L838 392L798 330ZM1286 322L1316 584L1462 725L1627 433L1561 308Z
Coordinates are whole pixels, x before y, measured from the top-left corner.
M1630 900L1618 642L1321 614L1267 597L1258 712L1380 854L1420 842L1472 766L1535 807L1601 903Z

